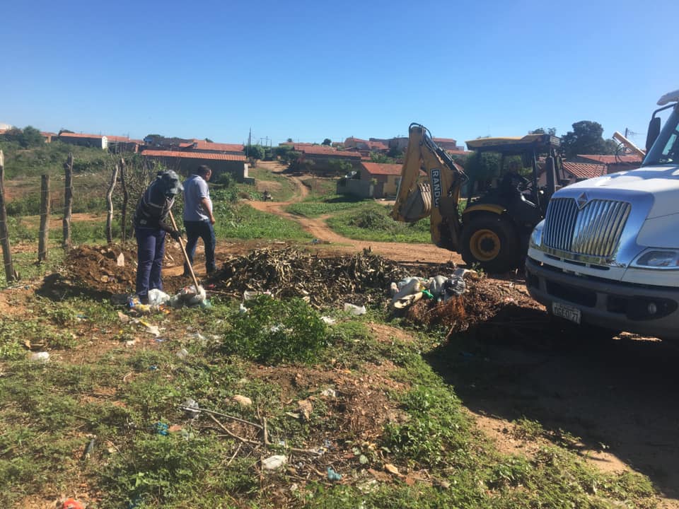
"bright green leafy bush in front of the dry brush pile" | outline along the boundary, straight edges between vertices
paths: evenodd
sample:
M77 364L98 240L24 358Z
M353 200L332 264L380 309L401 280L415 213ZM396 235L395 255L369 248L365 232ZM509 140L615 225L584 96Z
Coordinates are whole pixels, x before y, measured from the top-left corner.
M308 303L262 295L248 300L248 312L233 317L223 349L267 364L309 363L326 343L327 327Z

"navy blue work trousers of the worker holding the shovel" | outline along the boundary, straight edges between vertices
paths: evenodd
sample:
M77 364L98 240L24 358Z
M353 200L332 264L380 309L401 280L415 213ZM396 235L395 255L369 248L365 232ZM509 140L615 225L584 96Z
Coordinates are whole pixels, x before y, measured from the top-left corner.
M134 228L137 235L137 296L149 296L149 290L163 289L161 269L165 255L165 231L160 228Z

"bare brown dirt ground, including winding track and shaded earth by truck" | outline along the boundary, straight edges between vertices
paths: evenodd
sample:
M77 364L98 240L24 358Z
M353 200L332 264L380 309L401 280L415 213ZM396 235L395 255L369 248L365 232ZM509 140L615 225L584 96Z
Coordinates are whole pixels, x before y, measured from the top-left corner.
M298 198L306 187L298 184ZM266 184L264 184L266 185ZM274 195L275 198L275 195ZM365 248L385 259L403 264L413 276L426 274L446 264L462 264L457 254L432 245L362 242L332 233L323 218L300 218L286 213L286 203L248 202L301 223L320 242L304 246L319 255L356 254ZM284 243L224 242L217 244L218 267L226 259L253 250L280 250ZM117 259L122 253L125 266ZM69 276L47 279L38 291L64 288L98 288L103 294L125 293L134 286L134 251L118 248L83 248L67 262ZM189 283L180 277L181 254L175 242L168 243L163 270L166 291L173 293ZM204 277L202 245L196 260L197 275ZM69 279L70 278L70 279ZM23 290L0 293L0 311L16 309L13 298ZM418 303L419 304L419 303ZM426 311L426 310L425 310ZM417 311L414 311L417 312ZM575 329L557 327L547 320L544 309L530 299L520 275L477 279L465 296L455 340L439 347L426 359L455 387L455 392L475 417L485 435L503 452L530 456L545 438L526 438L517 432L516 419L540 421L545 433L578 437L576 450L587 462L604 472L634 469L649 476L663 493L663 508L679 508L679 347L651 338L621 334L610 341L586 338ZM423 315L420 315L422 317ZM431 315L427 315L431 319ZM378 339L407 340L402 329L371 324ZM475 366L482 365L482 369ZM267 368L258 376L288 385L326 386L359 401L361 387L392 383L376 366L373 380L356 380L342 367L337 373L299 373ZM283 394L286 391L283 390ZM313 403L313 402L312 402ZM385 402L376 402L384 404ZM369 439L374 426L365 409L349 405L337 411L352 414L352 432L363 430ZM381 419L397 419L382 416ZM378 423L381 425L381 422Z

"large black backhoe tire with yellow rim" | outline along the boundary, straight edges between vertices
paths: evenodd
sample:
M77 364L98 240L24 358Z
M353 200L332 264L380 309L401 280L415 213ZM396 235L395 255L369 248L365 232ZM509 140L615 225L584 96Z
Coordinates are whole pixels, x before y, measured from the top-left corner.
M462 227L460 251L465 263L500 274L518 267L521 242L514 226L499 216L477 216Z

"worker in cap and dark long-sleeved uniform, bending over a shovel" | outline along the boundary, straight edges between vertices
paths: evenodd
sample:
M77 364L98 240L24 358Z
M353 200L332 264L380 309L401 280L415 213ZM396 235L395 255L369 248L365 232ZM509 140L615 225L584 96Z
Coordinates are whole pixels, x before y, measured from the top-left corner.
M167 223L175 196L184 188L173 170L158 173L156 180L141 195L134 211L134 233L137 236L137 296L149 303L149 290L163 289L161 269L165 254L166 233L179 240L180 233Z

